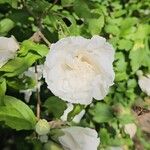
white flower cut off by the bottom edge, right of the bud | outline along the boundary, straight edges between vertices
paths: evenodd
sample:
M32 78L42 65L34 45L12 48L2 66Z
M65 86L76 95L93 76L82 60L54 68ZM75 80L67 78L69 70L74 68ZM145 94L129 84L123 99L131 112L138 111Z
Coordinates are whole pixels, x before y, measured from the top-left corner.
M64 150L97 150L100 143L94 129L83 127L69 127L61 129L63 136L58 138Z

